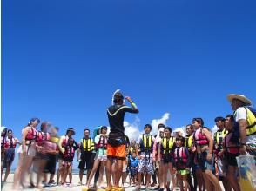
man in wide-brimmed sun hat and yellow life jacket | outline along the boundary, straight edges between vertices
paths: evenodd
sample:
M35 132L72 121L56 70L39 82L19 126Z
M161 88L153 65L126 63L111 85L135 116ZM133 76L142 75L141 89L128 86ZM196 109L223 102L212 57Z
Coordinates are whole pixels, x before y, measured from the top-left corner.
M256 110L252 108L252 102L245 95L227 95L234 111L234 119L239 127L240 154L248 152L256 155Z

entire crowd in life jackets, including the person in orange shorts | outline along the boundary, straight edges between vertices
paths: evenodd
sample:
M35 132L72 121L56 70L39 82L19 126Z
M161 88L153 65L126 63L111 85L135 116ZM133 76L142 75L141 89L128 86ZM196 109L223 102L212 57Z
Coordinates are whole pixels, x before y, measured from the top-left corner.
M4 128L2 175L3 168L6 171L2 181L7 180L19 144L14 189L74 186L72 168L77 153L79 182L75 184L84 185L84 191L104 188L105 181L104 190L125 190L128 176L135 190L140 190L142 185L146 190L171 190L172 182L173 190L220 191L222 181L226 191L240 191L236 157L246 154L255 157L256 112L244 95L228 95L227 98L233 114L216 117L214 122L218 130L213 134L205 127L204 120L196 117L185 127L186 135L173 134L172 128L165 124L158 124L158 134L152 135L152 126L146 124L138 140L130 142L125 135L124 116L126 112L138 113L138 108L130 97L125 99L131 107L126 106L120 92L115 93L113 104L107 109L109 133L106 126L99 126L91 136L90 129L85 128L83 137L76 142L72 137L74 128L58 136L58 128L50 122L42 122L38 129L40 120L32 118L23 128L19 141L11 129Z

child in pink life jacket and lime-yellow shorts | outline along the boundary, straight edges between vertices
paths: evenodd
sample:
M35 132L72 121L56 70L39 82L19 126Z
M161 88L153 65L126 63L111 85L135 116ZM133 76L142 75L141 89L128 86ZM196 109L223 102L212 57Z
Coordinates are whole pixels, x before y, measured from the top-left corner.
M188 149L184 146L185 138L176 138L176 147L174 150L174 168L177 170L179 188L181 191L190 190L187 175L190 174L190 158ZM184 188L183 188L184 182Z

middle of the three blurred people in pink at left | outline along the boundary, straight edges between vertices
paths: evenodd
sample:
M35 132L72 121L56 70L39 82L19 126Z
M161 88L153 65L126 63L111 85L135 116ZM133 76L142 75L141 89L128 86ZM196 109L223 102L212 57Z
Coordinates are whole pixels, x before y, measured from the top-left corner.
M51 127L51 123L49 122L42 122L41 123L41 129L40 131L37 131L37 152L36 152L36 156L34 158L34 164L33 164L33 168L34 171L37 172L37 188L42 188L39 183L40 183L40 179L43 177L43 173L44 173L44 167L46 165L46 162L49 160L49 157L47 155L48 150L46 149L47 147L45 147L45 142L50 141L51 136L50 134L47 132L48 128ZM32 174L31 174L32 175ZM35 187L34 184L32 183L32 177L30 175L30 184L31 187Z

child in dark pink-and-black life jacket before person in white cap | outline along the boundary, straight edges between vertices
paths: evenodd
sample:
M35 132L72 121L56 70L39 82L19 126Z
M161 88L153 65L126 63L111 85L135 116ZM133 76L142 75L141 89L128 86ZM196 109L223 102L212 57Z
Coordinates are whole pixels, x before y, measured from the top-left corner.
M64 183L66 187L72 187L72 166L76 150L79 148L77 142L70 138L64 147ZM66 183L67 175L70 177L70 183Z

